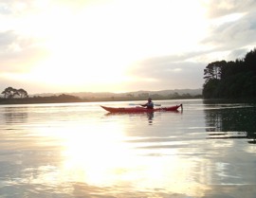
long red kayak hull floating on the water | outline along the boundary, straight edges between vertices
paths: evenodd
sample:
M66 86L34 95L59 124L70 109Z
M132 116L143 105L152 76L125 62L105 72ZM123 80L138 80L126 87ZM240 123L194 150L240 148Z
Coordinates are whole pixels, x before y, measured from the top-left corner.
M178 108L183 109L182 104L170 106L170 107L160 107L160 108L154 108L154 109L147 109L144 107L106 107L101 106L104 110L110 112L110 113L152 113L152 112L169 112L169 111L178 111Z

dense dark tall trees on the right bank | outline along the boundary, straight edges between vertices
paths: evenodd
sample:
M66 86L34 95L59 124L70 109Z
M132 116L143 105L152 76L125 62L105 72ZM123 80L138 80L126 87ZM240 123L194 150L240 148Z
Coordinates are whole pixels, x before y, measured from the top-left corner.
M256 48L245 58L209 63L204 69L205 99L256 98Z

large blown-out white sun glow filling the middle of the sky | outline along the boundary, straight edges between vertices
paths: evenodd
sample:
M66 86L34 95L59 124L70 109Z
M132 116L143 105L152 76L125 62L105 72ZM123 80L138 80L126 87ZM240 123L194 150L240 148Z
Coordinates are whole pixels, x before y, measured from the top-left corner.
M29 72L6 76L60 91L123 91L122 85L143 81L128 73L137 61L190 50L205 32L198 2L186 1L186 7L183 1L136 1L135 6L134 1L114 0L35 5L32 17L17 19L16 27L37 41L46 56ZM188 23L188 15L194 23Z

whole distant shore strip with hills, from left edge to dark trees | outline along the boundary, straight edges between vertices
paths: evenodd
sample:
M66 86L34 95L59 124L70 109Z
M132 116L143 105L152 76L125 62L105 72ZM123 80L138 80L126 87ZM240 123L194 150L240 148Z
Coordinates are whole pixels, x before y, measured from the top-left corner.
M0 104L33 104L33 103L64 103L64 102L94 102L94 101L132 101L147 100L151 97L154 100L163 99L202 99L202 89L174 89L161 91L137 91L127 93L59 93L59 94L37 94L27 95L19 98L0 98Z

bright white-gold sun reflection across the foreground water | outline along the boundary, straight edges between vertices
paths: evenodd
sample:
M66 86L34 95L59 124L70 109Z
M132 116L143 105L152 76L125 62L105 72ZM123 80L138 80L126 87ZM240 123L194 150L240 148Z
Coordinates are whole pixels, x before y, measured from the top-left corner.
M62 161L59 167L42 171L38 178L48 183L48 176L55 175L55 185L84 184L115 192L162 191L197 196L208 189L195 179L197 165L180 157L178 147L155 147L157 142L146 142L145 147L141 137L128 136L126 130L119 121L41 128L44 138L58 141Z

